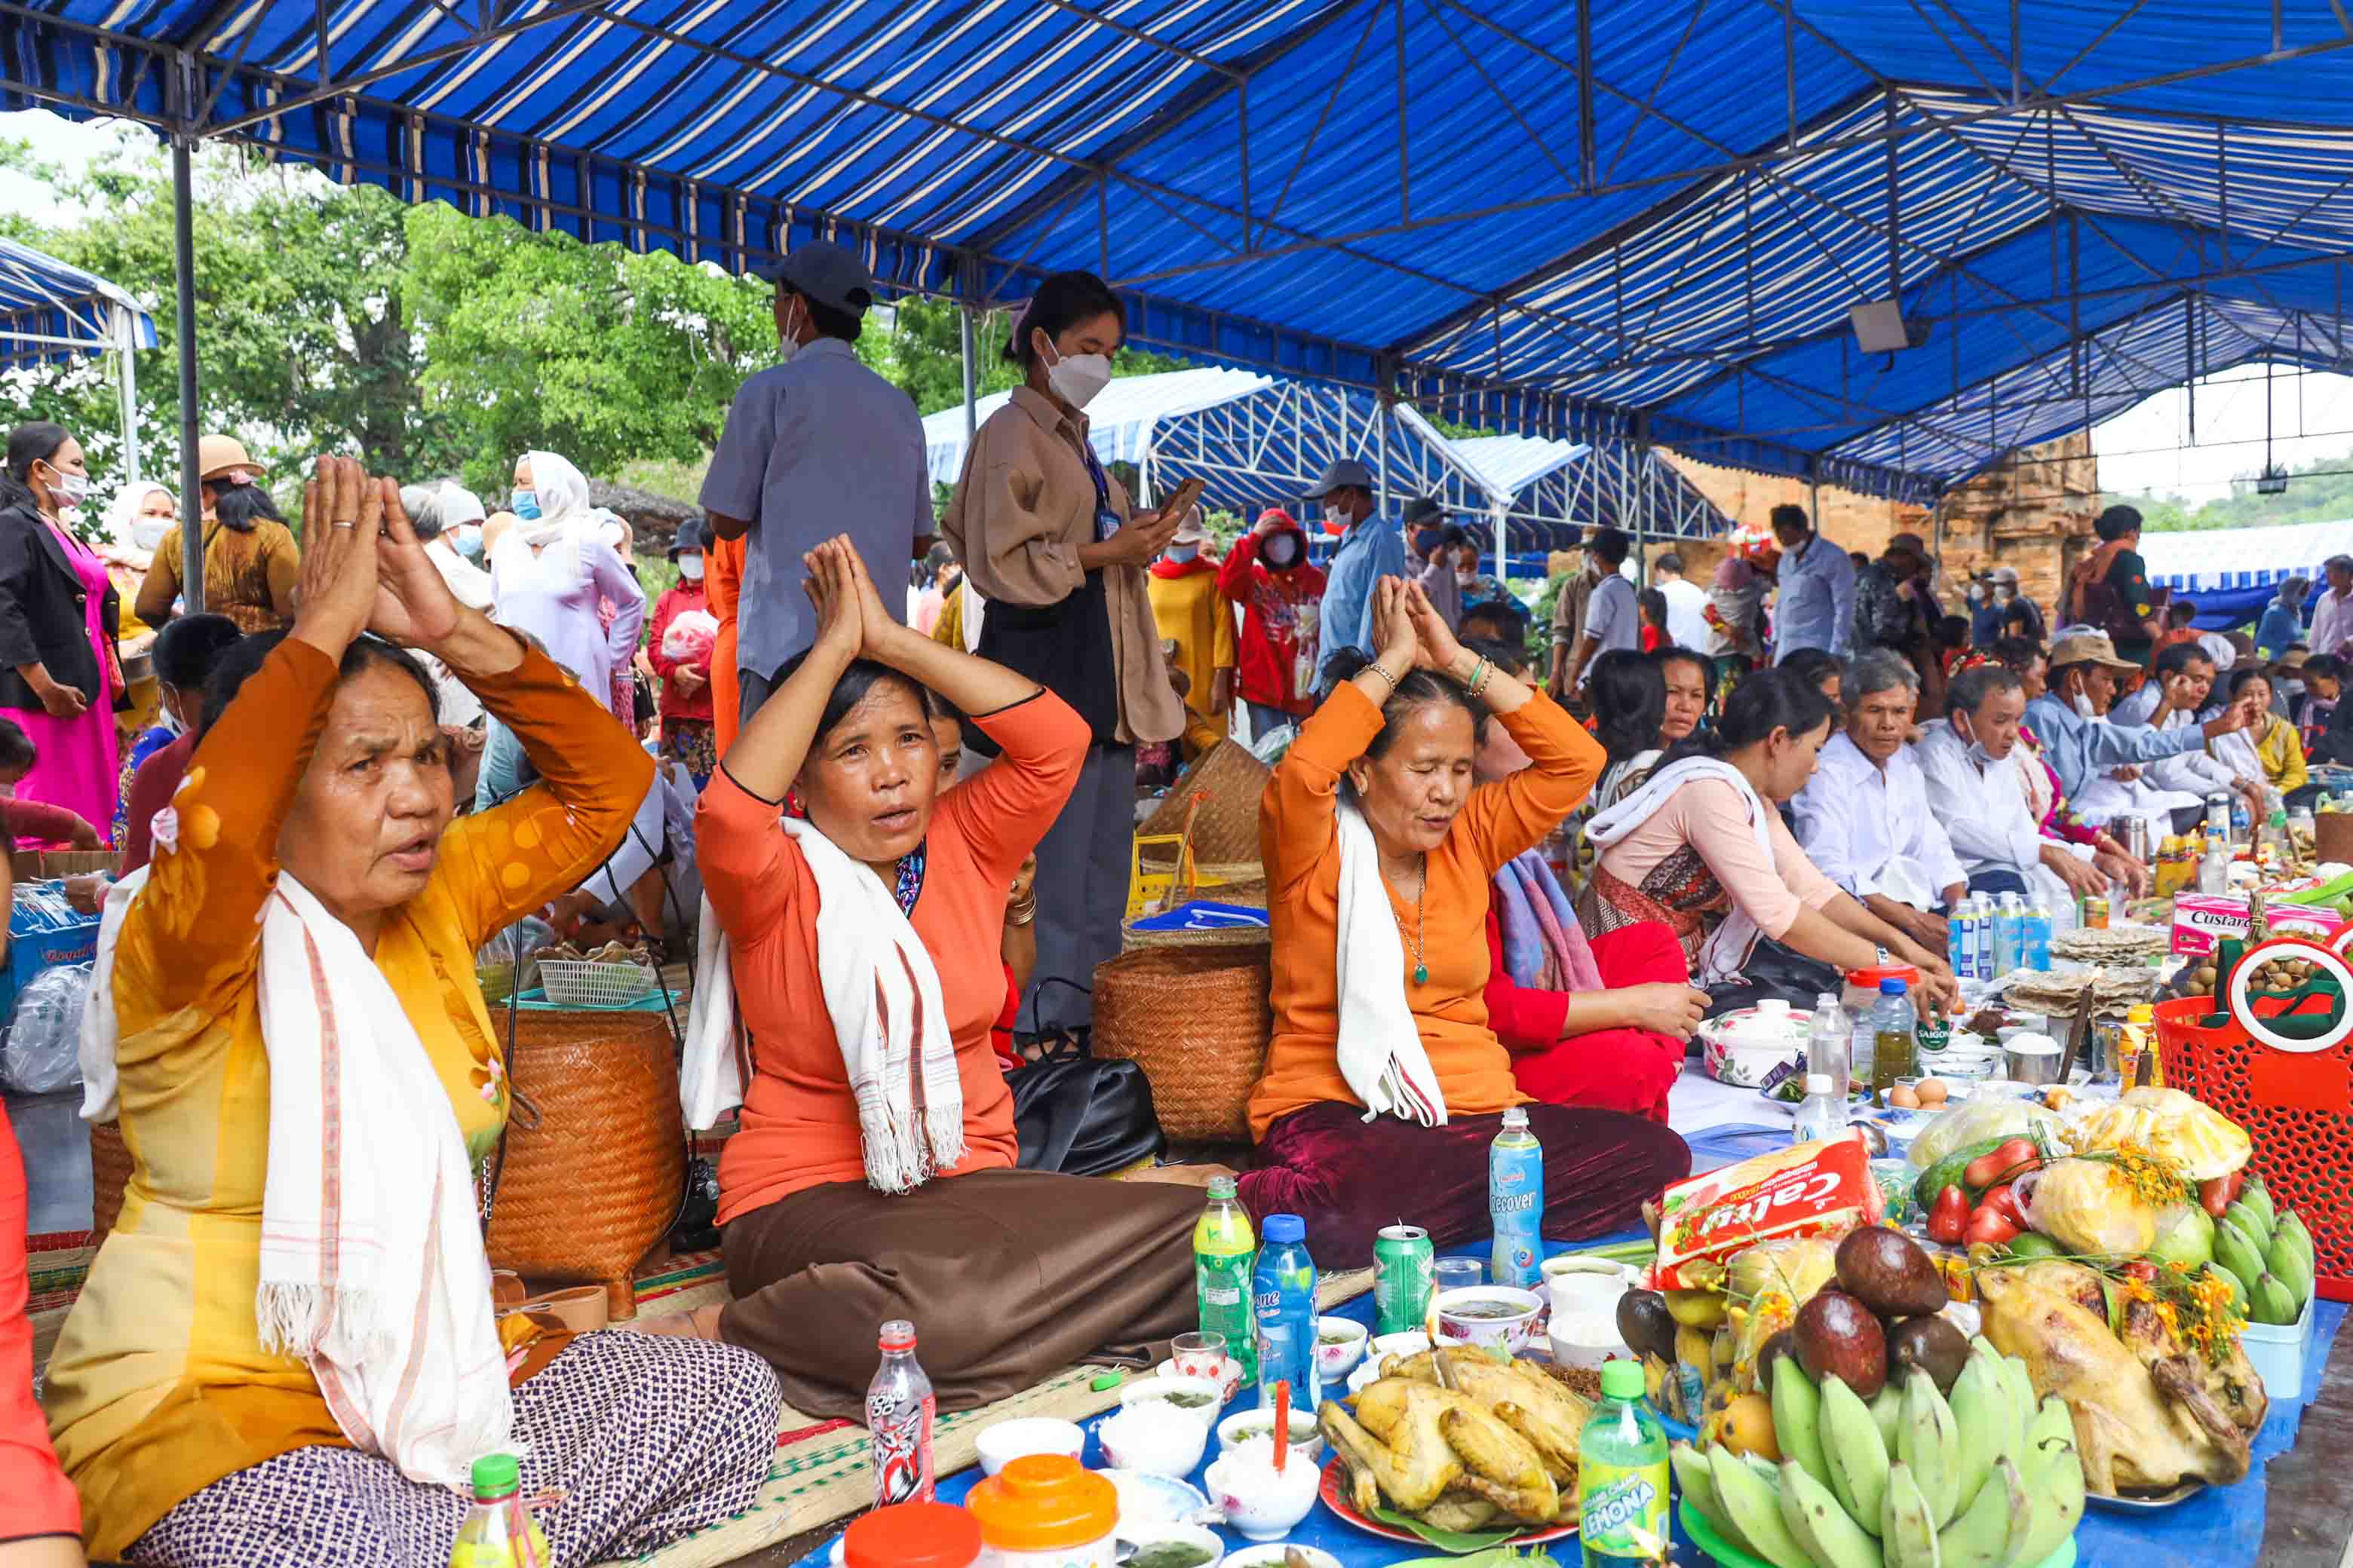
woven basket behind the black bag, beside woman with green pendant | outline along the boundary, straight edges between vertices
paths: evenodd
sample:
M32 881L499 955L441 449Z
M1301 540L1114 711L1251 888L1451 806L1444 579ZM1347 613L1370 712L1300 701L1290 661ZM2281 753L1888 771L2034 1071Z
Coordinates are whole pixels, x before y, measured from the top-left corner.
M1094 971L1094 1053L1132 1060L1160 1128L1184 1143L1249 1143L1249 1091L1275 1016L1264 945L1141 947Z

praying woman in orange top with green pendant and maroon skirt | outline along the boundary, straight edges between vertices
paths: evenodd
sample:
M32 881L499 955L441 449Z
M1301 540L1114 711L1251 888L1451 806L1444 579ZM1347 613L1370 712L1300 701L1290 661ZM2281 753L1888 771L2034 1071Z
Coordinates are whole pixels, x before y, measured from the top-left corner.
M1259 804L1275 1034L1249 1098L1259 1159L1242 1201L1306 1218L1325 1267L1360 1267L1400 1218L1438 1246L1489 1232L1487 1145L1529 1095L1487 1025L1487 889L1602 764L1548 696L1454 642L1417 585L1384 578L1374 628L1379 658L1301 726ZM1487 715L1529 766L1475 785ZM1546 1237L1628 1225L1689 1173L1692 1152L1657 1121L1527 1114Z

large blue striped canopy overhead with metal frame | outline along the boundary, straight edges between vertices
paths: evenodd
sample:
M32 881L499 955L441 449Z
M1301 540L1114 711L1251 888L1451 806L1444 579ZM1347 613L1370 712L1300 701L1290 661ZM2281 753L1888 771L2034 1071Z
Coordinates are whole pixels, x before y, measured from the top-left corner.
M0 0L0 103L1922 498L2346 369L2341 0ZM1852 310L1894 301L1892 353Z

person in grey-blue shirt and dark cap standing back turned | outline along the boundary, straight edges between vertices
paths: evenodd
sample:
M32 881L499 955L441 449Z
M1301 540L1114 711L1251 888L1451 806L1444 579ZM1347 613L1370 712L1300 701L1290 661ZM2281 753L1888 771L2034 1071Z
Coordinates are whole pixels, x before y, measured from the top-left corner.
M781 684L781 670L816 642L800 590L800 557L849 534L866 574L889 583L932 548L932 475L922 418L906 393L859 360L859 329L875 282L831 240L812 240L760 268L776 284L784 364L760 371L727 409L727 430L704 477L704 517L720 538L751 538L736 609L741 715Z

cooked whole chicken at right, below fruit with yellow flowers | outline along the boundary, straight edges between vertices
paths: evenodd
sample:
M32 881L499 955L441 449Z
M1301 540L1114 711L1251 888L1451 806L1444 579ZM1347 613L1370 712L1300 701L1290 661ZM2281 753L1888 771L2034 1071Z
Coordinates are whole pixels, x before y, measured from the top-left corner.
M2075 1265L1977 1272L1984 1333L2026 1361L2035 1394L2059 1394L2075 1418L2085 1486L2104 1497L2169 1493L2184 1481L2228 1486L2247 1476L2264 1387L2233 1347L2224 1366L2174 1352L2148 1302L2127 1307L2125 1338L2108 1333L2099 1281ZM2240 1425L2242 1418L2247 1425Z

